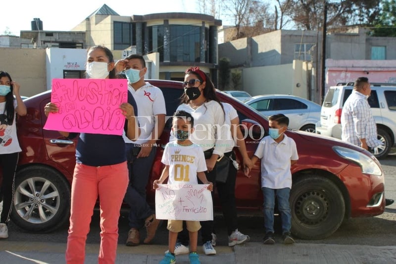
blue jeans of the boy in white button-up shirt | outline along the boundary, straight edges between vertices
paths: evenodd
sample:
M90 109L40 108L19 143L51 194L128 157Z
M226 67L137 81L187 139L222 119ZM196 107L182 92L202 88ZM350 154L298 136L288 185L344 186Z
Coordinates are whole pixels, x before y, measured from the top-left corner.
M264 196L264 228L265 232L274 232L275 196L278 199L278 210L282 220L282 234L290 232L292 227L292 211L289 205L290 188L271 189L262 187Z

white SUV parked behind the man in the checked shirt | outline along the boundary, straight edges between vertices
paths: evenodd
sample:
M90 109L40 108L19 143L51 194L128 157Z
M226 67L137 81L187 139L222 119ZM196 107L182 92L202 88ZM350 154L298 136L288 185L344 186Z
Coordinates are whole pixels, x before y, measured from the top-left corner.
M377 123L378 139L384 143L384 146L374 149L374 155L383 158L395 145L396 87L373 83L371 85L368 103ZM316 123L316 133L341 139L341 112L352 89L353 83L329 88L320 112L320 121Z

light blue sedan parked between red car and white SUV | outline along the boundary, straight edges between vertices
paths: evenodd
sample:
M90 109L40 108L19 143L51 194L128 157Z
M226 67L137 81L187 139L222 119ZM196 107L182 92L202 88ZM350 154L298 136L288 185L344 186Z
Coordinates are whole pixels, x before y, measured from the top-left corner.
M283 113L290 119L289 128L315 132L320 120L320 105L293 95L259 95L245 102L265 116Z

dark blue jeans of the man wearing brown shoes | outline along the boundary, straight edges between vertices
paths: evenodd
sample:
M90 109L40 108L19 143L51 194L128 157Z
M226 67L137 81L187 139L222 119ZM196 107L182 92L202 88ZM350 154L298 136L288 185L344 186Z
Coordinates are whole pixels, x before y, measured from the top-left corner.
M131 208L129 227L139 229L144 226L145 219L154 213L146 201L146 187L157 148L152 147L148 157L136 158L131 153L133 146L131 143L126 144L129 184L124 200Z

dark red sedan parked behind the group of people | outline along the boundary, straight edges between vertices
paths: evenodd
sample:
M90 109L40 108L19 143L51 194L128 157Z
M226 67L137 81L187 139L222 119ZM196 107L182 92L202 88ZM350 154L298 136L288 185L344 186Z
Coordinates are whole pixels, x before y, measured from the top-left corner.
M181 82L152 80L165 97L167 116L179 105L183 93ZM69 218L70 186L75 165L75 140L63 138L57 131L44 130L44 106L50 91L25 100L28 113L18 119L18 135L22 152L16 173L12 220L33 232L48 232L64 225ZM267 135L268 121L259 112L220 91L221 101L230 103L239 114L247 135L249 155ZM170 122L159 141L150 182L148 200L154 204L154 191L149 188L163 168L163 146L169 140ZM384 174L378 160L369 152L312 133L288 130L297 143L298 162L292 167L293 187L292 232L303 239L329 236L344 218L374 216L384 212ZM103 143L101 143L103 144ZM105 143L104 143L105 144ZM237 151L237 157L241 156ZM261 213L263 197L260 164L244 176L240 170L236 182L236 200L244 214ZM0 176L1 180L1 176ZM84 197L81 197L84 199ZM216 208L219 204L214 201Z

